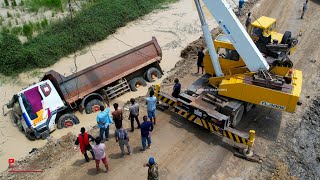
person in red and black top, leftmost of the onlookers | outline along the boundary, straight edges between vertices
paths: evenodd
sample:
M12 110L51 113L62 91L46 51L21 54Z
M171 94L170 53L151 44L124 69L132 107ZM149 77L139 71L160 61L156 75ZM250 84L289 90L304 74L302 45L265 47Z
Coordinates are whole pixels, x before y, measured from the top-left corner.
M81 153L84 155L84 158L86 159L86 161L89 162L87 151L90 151L92 158L95 159L95 156L89 141L94 141L95 139L86 132L86 129L84 127L81 128L80 132L81 134L78 135L75 145L80 146Z

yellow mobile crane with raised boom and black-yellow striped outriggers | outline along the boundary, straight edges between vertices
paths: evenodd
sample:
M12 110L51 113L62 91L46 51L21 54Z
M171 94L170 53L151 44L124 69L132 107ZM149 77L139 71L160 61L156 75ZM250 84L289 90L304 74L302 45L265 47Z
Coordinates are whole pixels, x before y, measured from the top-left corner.
M189 121L248 145L246 152L252 154L254 131L247 134L234 127L254 104L294 112L301 93L302 72L272 64L270 67L268 59L272 61L273 57L263 57L230 5L225 0L204 0L225 34L218 36L215 43L229 43L215 48L199 0L195 3L209 51L204 59L206 74L178 98L161 92L160 86L156 86L156 96Z

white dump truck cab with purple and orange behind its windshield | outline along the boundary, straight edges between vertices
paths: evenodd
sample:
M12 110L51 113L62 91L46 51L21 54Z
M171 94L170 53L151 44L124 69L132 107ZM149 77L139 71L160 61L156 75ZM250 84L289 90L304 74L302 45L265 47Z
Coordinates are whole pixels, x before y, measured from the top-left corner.
M48 137L55 130L57 114L66 108L49 80L20 91L13 99L14 112L21 116L17 124L30 138Z

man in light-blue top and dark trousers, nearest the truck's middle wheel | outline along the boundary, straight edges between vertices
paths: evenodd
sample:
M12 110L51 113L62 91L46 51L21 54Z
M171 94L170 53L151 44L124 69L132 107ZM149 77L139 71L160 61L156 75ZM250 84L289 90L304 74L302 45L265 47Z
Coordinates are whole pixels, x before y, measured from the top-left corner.
M109 141L109 126L112 124L112 118L109 115L110 108L107 107L104 109L103 106L100 106L99 114L97 115L97 123L98 127L100 128L100 140L103 141L103 134L106 136L106 140Z

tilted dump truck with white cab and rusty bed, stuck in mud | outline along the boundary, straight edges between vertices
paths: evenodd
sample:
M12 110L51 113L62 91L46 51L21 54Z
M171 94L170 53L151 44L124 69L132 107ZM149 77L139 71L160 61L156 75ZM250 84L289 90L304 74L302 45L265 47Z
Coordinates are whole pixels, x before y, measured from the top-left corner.
M80 123L76 110L92 113L128 91L161 78L161 48L155 37L140 46L85 68L70 76L51 70L12 97L6 104L14 122L29 139L49 136L56 127Z

